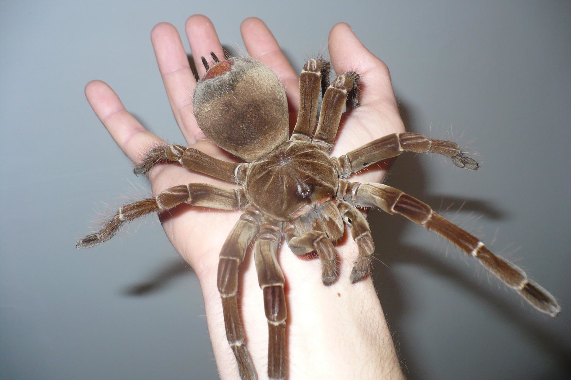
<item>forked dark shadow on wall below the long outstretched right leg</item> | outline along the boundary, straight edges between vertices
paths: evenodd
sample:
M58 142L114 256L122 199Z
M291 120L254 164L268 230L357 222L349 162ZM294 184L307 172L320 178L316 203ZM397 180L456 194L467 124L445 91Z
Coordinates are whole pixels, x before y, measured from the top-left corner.
M404 362L406 358L414 356L413 352L415 350L411 348L415 346L415 342L404 341L404 336L399 335L399 331L408 329L408 325L404 321L408 305L404 301L404 296L399 292L400 281L396 276L392 275L390 270L391 265L395 264L419 265L436 276L450 280L452 285L463 289L468 296L484 300L484 303L490 305L502 319L508 321L510 325L516 326L538 351L546 352L552 358L554 363L553 373L538 378L569 378L571 375L571 346L569 346L568 342L562 341L561 337L556 336L549 329L542 326L538 321L533 320L531 313L534 310L522 310L514 308L512 304L506 304L505 298L501 294L492 293L489 287L482 286L483 281L463 275L444 258L435 258L439 252L409 246L399 241L398 236L401 236L405 226L411 223L409 220L402 218L404 220L399 220L398 222L392 220L391 223L386 223L387 218L396 218L396 216L387 215L387 218L382 218L385 222L382 223L379 220L381 218L377 218L377 215L371 218L370 214L369 220L376 219L371 223L372 226L382 224L382 230L376 234L378 236L376 240L379 241L375 242L377 247L383 247L382 251L379 250L375 254L377 258L382 260L382 263L379 260L373 260L373 281L375 282L381 305L383 305L387 322L391 326L391 330L396 334L395 344L397 345L399 357L403 360L403 364L406 364L403 368L407 371L405 375L407 375L408 379L420 379L424 378L425 375L424 369L416 365L415 362ZM372 230L373 236L375 236L375 227L372 227ZM383 236L396 236L397 239L383 239ZM460 252L453 253L461 255ZM566 374L566 377L558 377L561 374Z

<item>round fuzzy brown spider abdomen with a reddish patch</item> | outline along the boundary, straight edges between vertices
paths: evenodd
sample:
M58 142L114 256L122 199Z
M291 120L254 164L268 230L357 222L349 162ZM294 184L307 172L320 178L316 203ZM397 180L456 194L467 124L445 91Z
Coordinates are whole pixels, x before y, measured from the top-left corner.
M287 141L286 92L265 64L230 58L210 67L192 100L200 129L212 142L248 162Z

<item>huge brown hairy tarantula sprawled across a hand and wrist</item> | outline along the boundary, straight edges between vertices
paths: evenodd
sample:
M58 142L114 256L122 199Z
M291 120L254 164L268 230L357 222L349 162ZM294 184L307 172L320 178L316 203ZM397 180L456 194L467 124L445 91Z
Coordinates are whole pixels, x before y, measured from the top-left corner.
M224 189L203 183L171 187L156 197L120 207L103 228L79 240L77 247L106 242L123 223L181 203L243 210L222 246L218 266L226 336L242 379L257 378L244 343L238 308L238 270L250 243L255 239L255 264L268 320L268 375L284 379L287 310L284 275L276 258L280 242L285 239L296 255L316 252L322 264L321 280L331 285L339 275L333 243L341 239L347 224L359 250L350 279L353 283L360 281L369 273L375 248L367 220L358 207L403 215L435 231L480 260L533 307L552 316L559 312L553 296L529 280L524 271L492 254L478 238L425 203L381 183L346 179L403 152L438 153L451 158L456 166L478 169L477 162L455 142L433 140L418 133L393 133L343 156L330 157L345 105L358 104L356 72L337 76L329 85L329 62L309 59L301 72L299 115L289 136L286 94L275 73L249 58L220 61L214 53L211 55L215 63L212 67L202 58L207 71L194 92L194 115L210 140L245 162L221 161L196 149L168 145L151 149L146 160L135 167L135 173L145 174L154 165L178 162L187 169L242 187ZM320 93L323 102L317 121Z

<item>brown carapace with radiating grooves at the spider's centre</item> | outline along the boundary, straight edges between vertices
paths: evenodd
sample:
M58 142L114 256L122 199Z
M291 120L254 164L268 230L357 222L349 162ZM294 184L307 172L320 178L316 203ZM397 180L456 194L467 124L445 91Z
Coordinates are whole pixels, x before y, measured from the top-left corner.
M291 220L335 197L339 176L327 153L287 141L248 167L244 190L265 214Z

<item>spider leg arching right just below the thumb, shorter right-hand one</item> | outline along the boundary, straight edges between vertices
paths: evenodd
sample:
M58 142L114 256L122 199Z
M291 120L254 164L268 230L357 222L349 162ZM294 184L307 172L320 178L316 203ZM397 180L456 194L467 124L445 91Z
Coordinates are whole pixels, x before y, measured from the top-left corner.
M468 170L477 170L478 163L460 150L456 142L433 140L420 133L393 133L377 138L344 156L338 157L339 173L343 178L351 173L387 158L399 156L403 152L438 153L451 158L454 165Z

